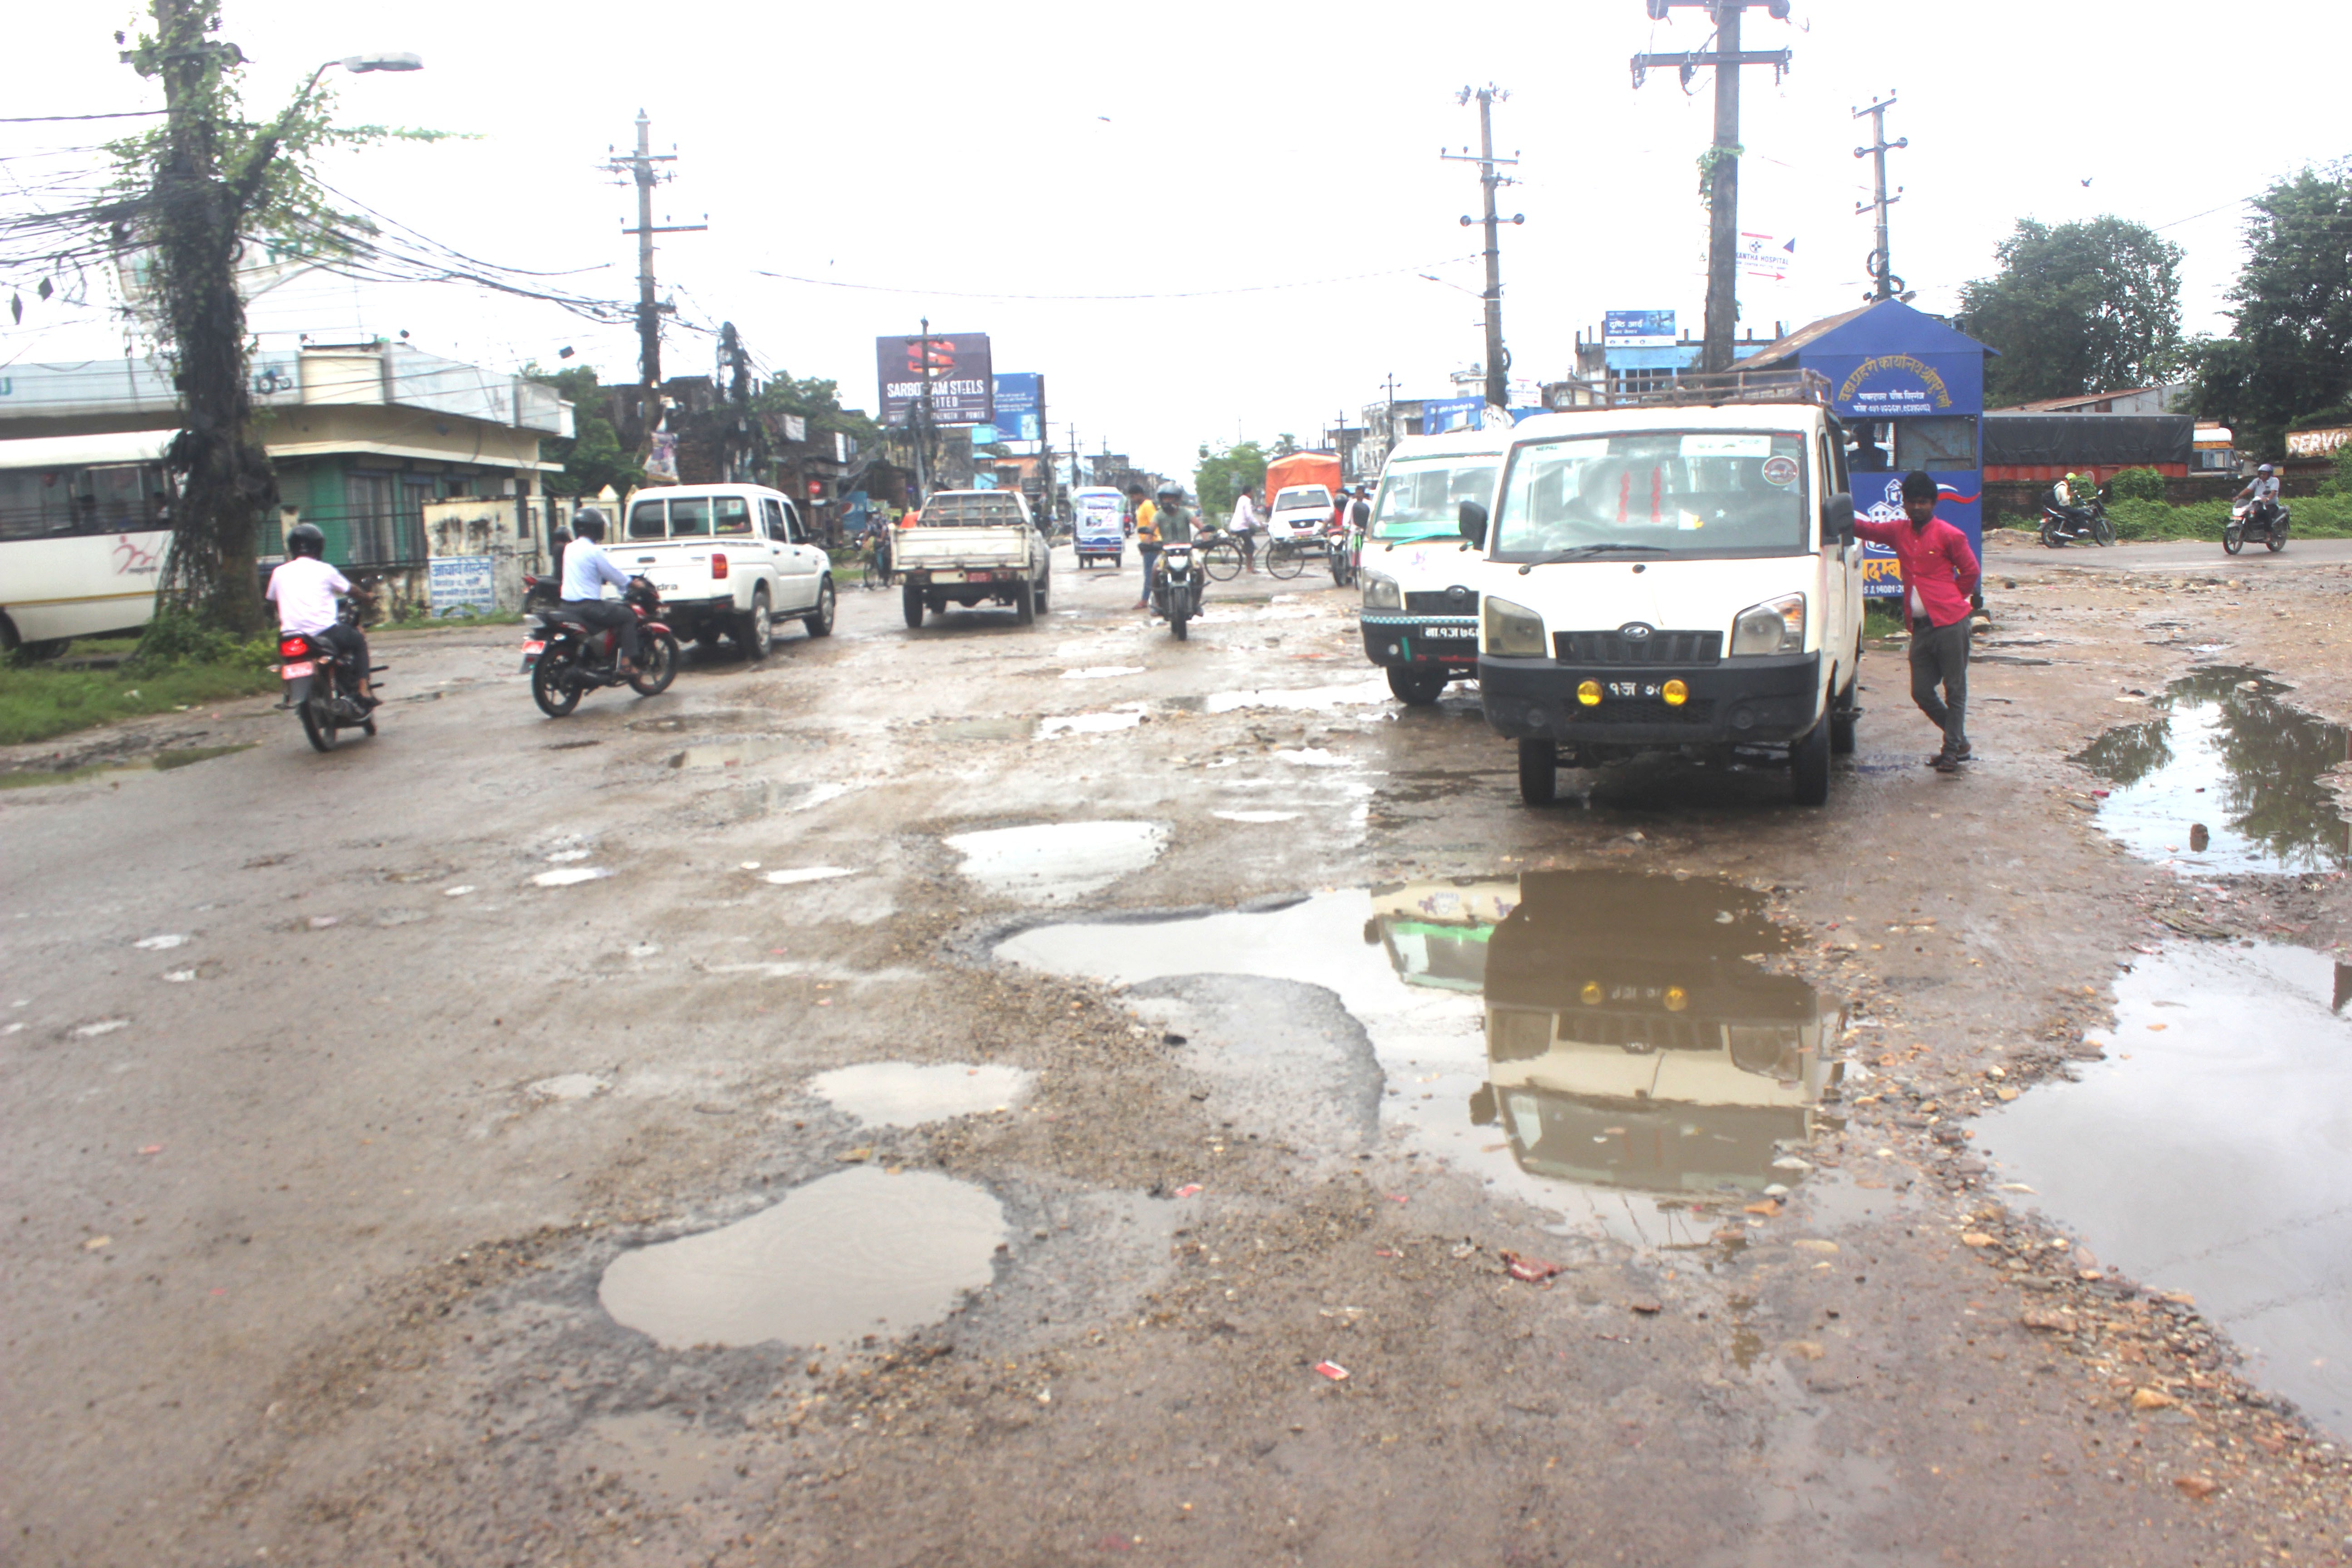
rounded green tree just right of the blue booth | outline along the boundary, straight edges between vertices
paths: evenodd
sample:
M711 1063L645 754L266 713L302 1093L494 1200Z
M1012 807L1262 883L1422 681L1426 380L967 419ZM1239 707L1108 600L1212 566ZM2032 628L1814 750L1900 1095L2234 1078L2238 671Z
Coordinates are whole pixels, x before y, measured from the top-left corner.
M2002 270L1962 287L1985 404L2157 386L2180 371L2180 247L2145 223L2018 219Z

